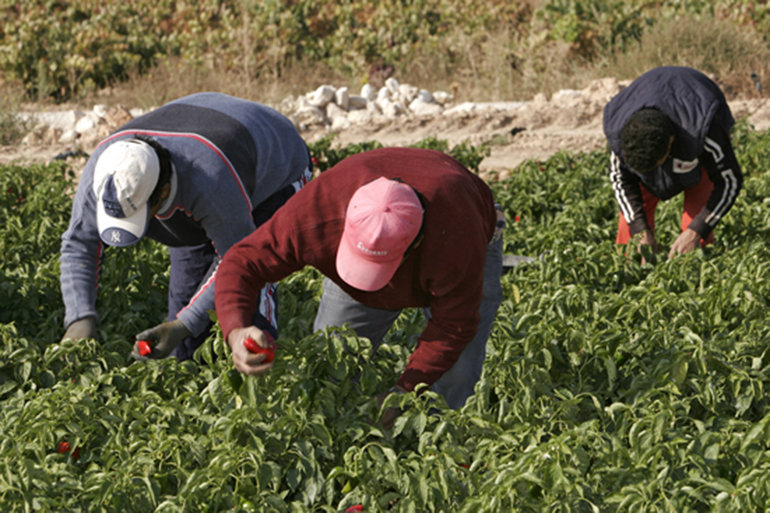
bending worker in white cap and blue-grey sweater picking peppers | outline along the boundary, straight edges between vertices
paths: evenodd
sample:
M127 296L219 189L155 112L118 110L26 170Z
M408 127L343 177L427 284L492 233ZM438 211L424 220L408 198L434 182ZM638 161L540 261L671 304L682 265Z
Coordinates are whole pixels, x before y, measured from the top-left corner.
M138 340L150 358L188 359L208 335L220 258L310 178L294 125L263 105L218 93L172 101L131 120L86 163L62 236L64 338L96 338L104 246L150 237L169 246L167 322ZM249 318L276 333L275 288L263 283ZM142 359L134 348L133 356Z

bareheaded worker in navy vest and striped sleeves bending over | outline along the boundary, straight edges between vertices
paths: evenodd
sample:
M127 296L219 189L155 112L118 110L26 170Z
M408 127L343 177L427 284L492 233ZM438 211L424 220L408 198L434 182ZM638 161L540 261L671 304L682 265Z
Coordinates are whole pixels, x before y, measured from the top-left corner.
M710 244L743 175L730 144L734 124L719 87L690 68L648 71L604 108L610 179L620 205L617 243L642 232L658 251L655 207L684 191L682 233L669 258Z

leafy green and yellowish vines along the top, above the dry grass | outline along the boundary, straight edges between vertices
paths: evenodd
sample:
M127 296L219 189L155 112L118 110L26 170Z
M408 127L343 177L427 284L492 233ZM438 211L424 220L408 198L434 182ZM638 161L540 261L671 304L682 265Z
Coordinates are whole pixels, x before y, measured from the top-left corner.
M542 40L594 57L628 43L657 20L710 16L770 35L770 9L756 0L5 0L0 2L0 70L38 98L104 87L167 55L218 69L280 75L303 59L351 77L403 68L420 52L459 61L462 34L516 34L512 55Z

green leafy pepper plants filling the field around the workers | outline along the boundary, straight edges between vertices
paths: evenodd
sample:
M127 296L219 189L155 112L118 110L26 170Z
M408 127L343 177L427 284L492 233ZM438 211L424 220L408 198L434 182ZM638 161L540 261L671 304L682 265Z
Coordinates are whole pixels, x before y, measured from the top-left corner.
M108 255L102 342L60 343L67 170L0 168L2 509L764 510L770 135L741 124L734 140L745 189L716 244L656 266L613 243L606 154L494 183L506 251L538 258L504 276L476 395L458 411L393 397L405 413L390 431L368 422L368 397L405 365L419 311L373 357L352 333L311 333L321 277L307 269L281 284L270 375L235 372L221 336L195 361L132 363L128 340L165 304L167 256L143 241ZM375 146L313 153L323 169ZM660 208L670 243L681 201Z

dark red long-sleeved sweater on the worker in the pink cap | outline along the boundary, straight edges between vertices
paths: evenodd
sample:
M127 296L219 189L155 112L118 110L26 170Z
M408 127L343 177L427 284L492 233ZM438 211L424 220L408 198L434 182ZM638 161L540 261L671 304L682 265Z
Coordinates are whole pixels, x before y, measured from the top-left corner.
M424 197L424 238L384 288L363 292L342 281L335 259L350 198L381 176L398 178ZM348 157L225 254L216 284L220 326L225 337L234 328L249 326L266 282L312 265L367 306L431 307L432 317L398 381L407 390L418 383L431 385L476 334L495 222L486 183L441 152L384 148Z

